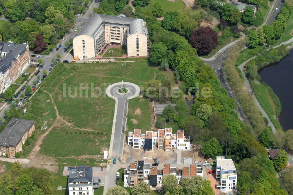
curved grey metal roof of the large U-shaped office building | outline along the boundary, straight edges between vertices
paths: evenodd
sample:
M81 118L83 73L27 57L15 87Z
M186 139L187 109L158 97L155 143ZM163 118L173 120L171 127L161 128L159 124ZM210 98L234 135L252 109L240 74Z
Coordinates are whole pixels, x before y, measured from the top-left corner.
M105 15L105 14L93 14L93 16L91 16L91 18L88 20L86 25L81 29L81 31L79 31L79 33L76 36L79 36L79 35L92 36L103 21L129 25L130 26L129 34L133 34L133 33L144 34L142 19L125 17L123 14L120 14L118 16Z

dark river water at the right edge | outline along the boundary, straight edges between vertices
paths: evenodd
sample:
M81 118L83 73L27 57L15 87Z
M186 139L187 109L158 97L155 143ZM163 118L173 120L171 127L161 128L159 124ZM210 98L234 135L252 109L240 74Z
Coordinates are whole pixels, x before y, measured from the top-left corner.
M280 62L272 63L258 73L261 81L267 83L280 99L279 122L283 130L293 129L293 49Z

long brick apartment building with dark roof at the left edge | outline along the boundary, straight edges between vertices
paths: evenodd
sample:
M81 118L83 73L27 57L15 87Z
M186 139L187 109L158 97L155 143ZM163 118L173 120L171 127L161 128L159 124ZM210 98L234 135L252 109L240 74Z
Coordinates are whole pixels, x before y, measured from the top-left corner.
M30 65L28 44L11 41L0 43L0 93L13 83Z

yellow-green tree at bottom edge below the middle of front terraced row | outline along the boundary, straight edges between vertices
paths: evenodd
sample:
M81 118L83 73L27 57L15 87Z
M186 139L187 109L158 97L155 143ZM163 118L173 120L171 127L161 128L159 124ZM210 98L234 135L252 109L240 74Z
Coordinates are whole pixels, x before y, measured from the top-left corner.
M163 194L178 194L178 179L175 175L165 175L162 178Z

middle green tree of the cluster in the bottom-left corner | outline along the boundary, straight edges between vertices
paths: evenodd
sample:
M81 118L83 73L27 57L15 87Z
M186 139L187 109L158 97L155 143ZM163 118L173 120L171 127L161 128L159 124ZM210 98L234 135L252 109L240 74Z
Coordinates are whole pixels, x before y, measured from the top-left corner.
M32 189L34 181L32 177L25 173L18 176L16 180L16 192L15 195L28 195L29 191Z

